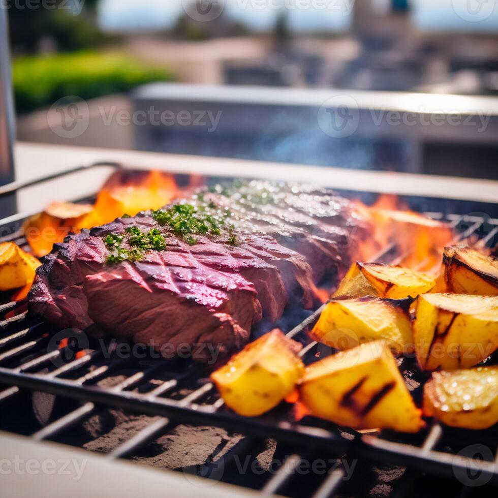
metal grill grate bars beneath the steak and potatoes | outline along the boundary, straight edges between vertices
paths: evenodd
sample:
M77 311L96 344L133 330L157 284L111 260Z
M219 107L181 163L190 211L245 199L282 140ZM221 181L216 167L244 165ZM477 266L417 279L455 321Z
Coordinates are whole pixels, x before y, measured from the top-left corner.
M498 220L473 215L427 214L434 219L450 221L458 234L455 242L471 240L480 246L495 244ZM479 233L483 227L484 233ZM12 239L20 245L26 243L19 233L13 234ZM392 262L393 253L395 247L386 247L375 261ZM326 448L328 451L347 452L374 461L402 462L420 471L450 478L454 477L456 471L466 472L472 469L498 485L498 453L495 452L493 460L483 461L455 454L454 450L475 444L493 446L496 449L496 428L466 431L435 423L417 435L389 431L360 434L312 417L296 422L292 409L288 407L278 407L256 419L239 417L224 409L223 400L205 378L207 371L204 366L181 360L149 358L143 366L142 362L137 362L132 357L120 358L117 354L119 344L111 344L108 354L98 347L92 349L92 344L83 354L75 354L71 345L49 351L47 346L51 331L47 330L45 324L36 323L27 312L5 319L6 314L23 305L25 300L0 306L0 318L4 318L0 321L0 384L6 386L0 391L0 411L6 410L9 401L23 390L42 391L81 402L77 409L32 434L36 440L56 438L103 406L162 417L111 451L108 458L132 455L181 422L220 426L252 438L273 438L298 447ZM318 319L321 309L287 334L303 343L301 356L305 363L313 361L317 353L317 344L309 342L306 331ZM59 361L60 366L53 368ZM47 368L49 371L44 371ZM97 386L98 381L130 368L133 374L127 375L119 384L111 388ZM409 360L403 360L401 369L403 368L410 368ZM147 389L147 382L158 372L164 377L162 384ZM195 386L193 389L192 385ZM188 395L179 395L183 390L190 392ZM349 437L345 437L345 431ZM458 442L457 445L455 441ZM264 485L263 491L267 494L281 491L292 479L304 456L302 453L289 456L279 472ZM321 498L337 491L343 483L344 475L343 469L333 470L317 487L314 496Z

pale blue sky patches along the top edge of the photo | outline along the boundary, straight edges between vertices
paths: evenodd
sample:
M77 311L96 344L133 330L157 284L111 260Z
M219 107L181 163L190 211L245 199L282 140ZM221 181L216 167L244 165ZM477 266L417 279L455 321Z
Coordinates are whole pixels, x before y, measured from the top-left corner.
M292 0L280 0L288 4ZM296 30L347 29L355 1L364 0L294 0L300 5L329 5L329 9L291 9L289 22ZM308 2L306 4L305 2ZM372 0L385 9L389 0ZM498 0L411 0L413 20L428 30L459 29L498 31ZM225 11L251 29L268 30L274 25L278 0L225 0ZM290 4L292 5L292 4ZM265 7L266 6L266 7ZM469 10L470 9L470 10ZM102 27L110 30L170 28L183 13L182 0L101 0L99 7Z

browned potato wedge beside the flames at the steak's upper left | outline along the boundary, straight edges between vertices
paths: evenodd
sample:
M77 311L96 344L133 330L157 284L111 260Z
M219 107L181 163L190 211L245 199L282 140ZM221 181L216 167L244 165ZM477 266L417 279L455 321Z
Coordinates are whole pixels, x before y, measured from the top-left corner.
M69 232L86 228L85 220L92 209L91 204L52 202L43 212L30 217L24 224L24 233L35 256L45 256Z

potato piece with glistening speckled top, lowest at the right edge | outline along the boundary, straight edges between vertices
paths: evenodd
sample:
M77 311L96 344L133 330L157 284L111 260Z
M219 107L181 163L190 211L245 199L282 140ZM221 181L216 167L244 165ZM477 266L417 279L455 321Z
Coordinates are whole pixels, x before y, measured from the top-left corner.
M435 372L424 386L423 411L465 429L498 423L498 366Z

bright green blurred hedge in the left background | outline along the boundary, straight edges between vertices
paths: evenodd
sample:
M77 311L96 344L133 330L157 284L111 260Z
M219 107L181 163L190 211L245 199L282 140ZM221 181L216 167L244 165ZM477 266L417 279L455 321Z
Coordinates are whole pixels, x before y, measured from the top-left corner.
M13 63L16 109L20 113L50 106L67 96L91 99L172 79L166 70L118 53L26 56Z

